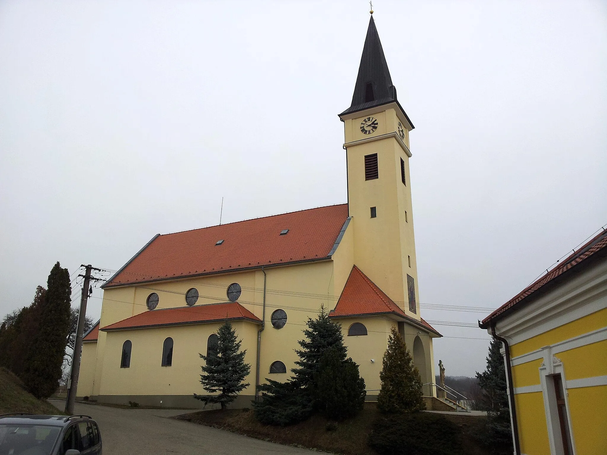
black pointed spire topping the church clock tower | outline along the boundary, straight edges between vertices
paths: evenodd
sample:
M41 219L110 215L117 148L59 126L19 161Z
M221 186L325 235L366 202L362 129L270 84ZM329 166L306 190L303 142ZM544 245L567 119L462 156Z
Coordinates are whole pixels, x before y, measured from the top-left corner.
M352 104L339 115L394 102L401 107L396 98L396 87L392 85L384 49L381 46L381 41L379 41L378 29L376 29L375 21L371 16L367 38L365 38L365 45L362 48L361 65L358 68ZM402 107L401 110L404 113ZM407 116L406 113L405 116ZM407 120L409 120L409 117L407 117Z

